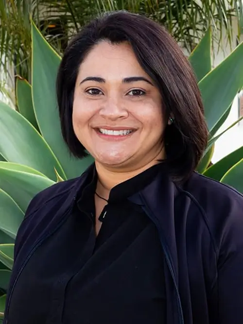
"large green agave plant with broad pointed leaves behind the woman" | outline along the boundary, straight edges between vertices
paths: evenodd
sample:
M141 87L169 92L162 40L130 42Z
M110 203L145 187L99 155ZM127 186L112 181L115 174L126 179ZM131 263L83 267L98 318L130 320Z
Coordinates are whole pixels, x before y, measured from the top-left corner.
M211 68L211 33L189 59L202 93L208 122L208 147L198 171L243 192L243 147L210 165L215 135L243 87L243 44L217 68ZM92 162L76 159L62 139L55 98L60 56L32 23L32 85L17 78L18 111L0 103L0 317L13 266L14 242L30 200L57 181L79 176ZM236 124L238 120L235 121ZM233 125L234 125L233 124ZM231 125L229 128L231 128Z

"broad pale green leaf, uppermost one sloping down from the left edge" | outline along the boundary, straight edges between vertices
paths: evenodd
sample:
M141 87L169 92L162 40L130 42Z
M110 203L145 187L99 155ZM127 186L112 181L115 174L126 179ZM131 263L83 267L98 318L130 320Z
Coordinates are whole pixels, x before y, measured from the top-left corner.
M0 102L0 153L9 162L27 165L55 180L55 171L64 178L56 157L32 124Z

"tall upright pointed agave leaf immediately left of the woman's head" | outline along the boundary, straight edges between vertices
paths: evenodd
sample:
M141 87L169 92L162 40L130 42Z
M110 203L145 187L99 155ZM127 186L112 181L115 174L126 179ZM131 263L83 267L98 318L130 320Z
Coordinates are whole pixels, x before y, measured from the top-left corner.
M67 177L74 178L83 173L93 159L90 156L83 160L72 157L63 140L55 90L61 58L53 51L33 22L32 41L32 94L39 129ZM63 178L58 169L57 171Z

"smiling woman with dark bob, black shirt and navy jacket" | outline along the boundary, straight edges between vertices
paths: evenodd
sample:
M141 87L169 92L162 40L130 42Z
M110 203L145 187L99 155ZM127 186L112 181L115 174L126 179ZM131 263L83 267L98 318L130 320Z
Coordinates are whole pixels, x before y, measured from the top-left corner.
M191 67L155 22L91 21L57 76L63 137L95 160L31 202L7 324L242 324L243 196L194 172L208 131Z

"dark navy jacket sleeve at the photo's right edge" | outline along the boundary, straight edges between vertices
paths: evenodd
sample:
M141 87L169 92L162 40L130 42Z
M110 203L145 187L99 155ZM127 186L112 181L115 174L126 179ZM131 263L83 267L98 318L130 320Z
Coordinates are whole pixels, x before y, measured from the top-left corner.
M220 324L243 324L243 197L223 225L218 260Z

